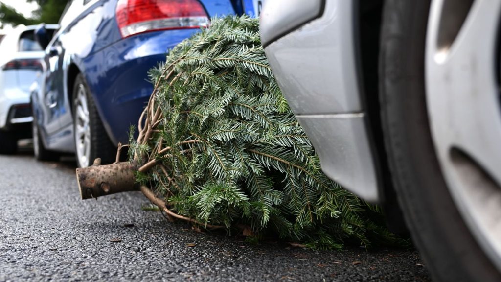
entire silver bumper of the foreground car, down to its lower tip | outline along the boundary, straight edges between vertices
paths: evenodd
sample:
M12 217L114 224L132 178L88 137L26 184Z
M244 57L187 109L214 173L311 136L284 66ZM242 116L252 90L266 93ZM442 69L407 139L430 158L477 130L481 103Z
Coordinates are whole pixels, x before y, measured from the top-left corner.
M307 13L302 4L267 3L262 34L273 34L268 29L280 25L267 16L282 11ZM279 11L286 5L290 5L287 10ZM324 172L365 200L378 202L378 175L357 68L355 9L355 1L326 1L318 18L275 41L265 38L265 52L291 109L319 153Z

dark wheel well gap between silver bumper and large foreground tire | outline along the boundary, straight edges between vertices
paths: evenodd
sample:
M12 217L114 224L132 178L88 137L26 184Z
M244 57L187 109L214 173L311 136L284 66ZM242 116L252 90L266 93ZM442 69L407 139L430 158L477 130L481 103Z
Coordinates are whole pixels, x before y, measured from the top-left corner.
M360 0L358 7L358 45L359 67L362 80L364 105L367 109L367 124L376 156L379 182L382 187L380 195L383 198L387 224L396 233L407 233L403 214L398 204L395 189L391 179L389 164L384 147L381 125L381 109L379 106L379 40L383 0Z

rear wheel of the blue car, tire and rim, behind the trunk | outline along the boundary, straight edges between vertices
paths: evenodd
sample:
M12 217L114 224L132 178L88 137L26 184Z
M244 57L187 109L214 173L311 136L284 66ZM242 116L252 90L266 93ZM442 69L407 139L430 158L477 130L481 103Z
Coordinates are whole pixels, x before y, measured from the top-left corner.
M96 158L102 164L115 160L116 147L108 137L84 77L79 74L73 89L73 125L77 164L89 167Z

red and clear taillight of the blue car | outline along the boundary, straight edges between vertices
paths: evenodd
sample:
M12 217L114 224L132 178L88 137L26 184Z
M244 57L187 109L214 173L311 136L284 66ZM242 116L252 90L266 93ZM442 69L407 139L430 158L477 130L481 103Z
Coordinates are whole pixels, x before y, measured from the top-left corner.
M122 37L134 34L206 27L209 18L196 0L119 0L117 23Z

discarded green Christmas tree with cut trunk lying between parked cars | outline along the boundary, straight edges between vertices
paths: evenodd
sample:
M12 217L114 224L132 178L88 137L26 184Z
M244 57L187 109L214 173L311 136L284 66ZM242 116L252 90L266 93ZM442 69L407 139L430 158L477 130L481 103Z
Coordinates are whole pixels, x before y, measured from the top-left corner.
M389 235L372 220L374 207L322 173L273 77L257 20L213 20L150 77L130 161L78 169L82 198L140 190L172 220L329 248Z

